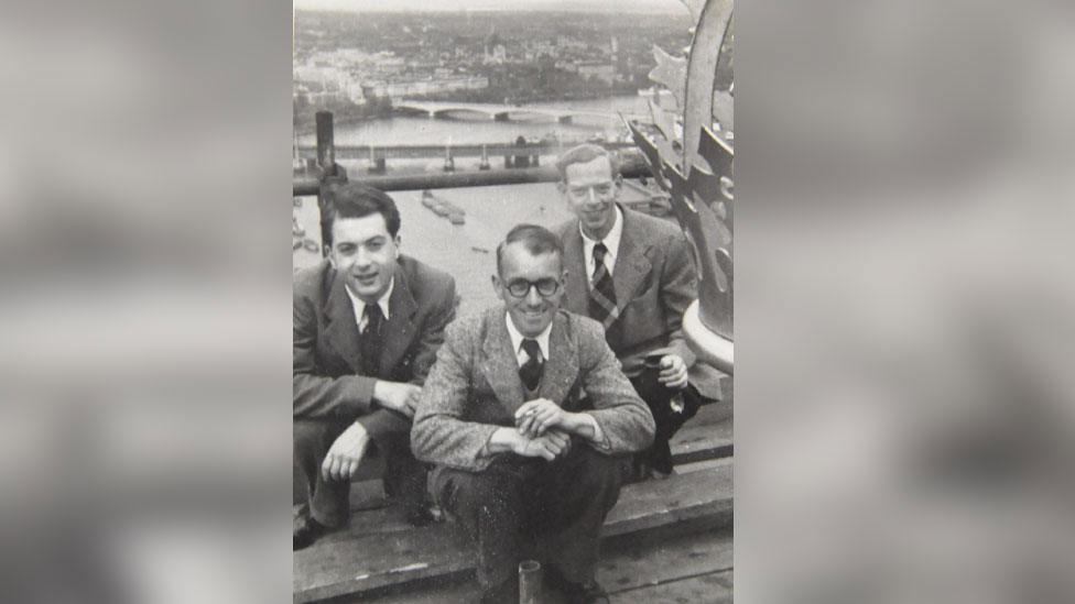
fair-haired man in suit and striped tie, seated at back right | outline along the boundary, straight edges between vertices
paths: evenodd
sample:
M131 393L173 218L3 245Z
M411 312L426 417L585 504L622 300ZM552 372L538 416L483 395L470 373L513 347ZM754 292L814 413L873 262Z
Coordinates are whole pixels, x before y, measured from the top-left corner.
M683 312L698 296L687 242L675 226L617 202L621 177L604 147L584 144L556 162L575 218L556 229L567 268L564 308L605 326L623 373L656 420L637 477L672 472L669 438L702 397L720 398L719 375L683 336ZM688 388L688 383L691 388Z

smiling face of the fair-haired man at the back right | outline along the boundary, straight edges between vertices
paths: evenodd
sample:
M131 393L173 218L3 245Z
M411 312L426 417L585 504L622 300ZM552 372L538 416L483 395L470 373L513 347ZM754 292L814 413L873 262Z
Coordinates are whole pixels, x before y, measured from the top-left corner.
M608 157L571 164L565 168L562 190L567 206L578 217L583 232L602 240L616 221L616 196L619 183L612 178Z

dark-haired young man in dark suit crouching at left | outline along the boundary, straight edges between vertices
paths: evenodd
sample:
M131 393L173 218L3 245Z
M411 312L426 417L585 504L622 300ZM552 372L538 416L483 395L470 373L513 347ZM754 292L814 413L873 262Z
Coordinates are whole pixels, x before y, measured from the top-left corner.
M371 444L386 493L411 521L426 519L410 418L456 306L449 275L399 253L389 196L346 184L323 212L328 257L293 284L295 549L346 525L349 481Z

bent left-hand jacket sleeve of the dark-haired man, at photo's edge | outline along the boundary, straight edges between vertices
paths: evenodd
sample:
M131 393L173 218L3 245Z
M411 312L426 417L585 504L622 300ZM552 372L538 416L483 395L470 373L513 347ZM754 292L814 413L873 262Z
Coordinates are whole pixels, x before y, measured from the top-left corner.
M371 377L317 374L317 311L302 290L293 294L292 398L293 417L349 421L369 414L373 398Z

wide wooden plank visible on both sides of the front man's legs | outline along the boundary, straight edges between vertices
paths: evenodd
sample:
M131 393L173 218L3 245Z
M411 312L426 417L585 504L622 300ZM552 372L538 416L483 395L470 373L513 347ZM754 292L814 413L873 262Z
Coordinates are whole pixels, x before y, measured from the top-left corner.
M695 518L727 515L732 508L731 464L623 487L602 536L660 528ZM474 556L454 524L395 531L369 531L367 514L400 523L399 510L356 515L346 531L326 536L294 553L294 600L310 602L365 592L474 568ZM376 520L373 520L376 521ZM362 532L359 532L359 529Z

